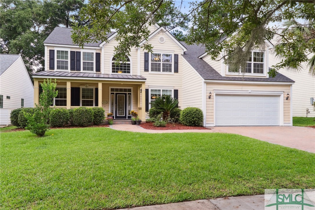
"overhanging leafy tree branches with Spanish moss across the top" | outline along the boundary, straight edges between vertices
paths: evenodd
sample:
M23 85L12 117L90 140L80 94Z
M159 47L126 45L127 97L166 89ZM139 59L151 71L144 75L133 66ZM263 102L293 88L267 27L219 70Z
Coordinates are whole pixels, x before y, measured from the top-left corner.
M139 47L139 43L148 38L148 25L159 22L171 26L169 30L172 30L172 24L190 23L186 43L205 46L212 59L223 59L225 63L245 68L250 51L262 46L265 39L278 35L282 39L275 46L275 53L282 61L269 74L274 77L280 68L299 70L298 64L304 61L309 62L310 73L315 74L314 0L204 0L190 3L188 14L176 10L172 0L92 0L79 16L90 25L74 23L74 42L83 46L97 40L107 41L106 33L116 30L119 45L115 53L120 60L132 47ZM268 26L285 20L294 24ZM182 36L181 31L173 32L176 33ZM150 44L142 48L152 51Z

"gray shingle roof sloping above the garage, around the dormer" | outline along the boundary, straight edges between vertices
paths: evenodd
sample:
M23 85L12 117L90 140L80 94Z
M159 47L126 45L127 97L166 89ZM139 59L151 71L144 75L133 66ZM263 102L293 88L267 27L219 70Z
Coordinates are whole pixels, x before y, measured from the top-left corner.
M206 61L198 56L205 53L204 46L187 45L185 42L181 42L187 51L183 57L192 65L194 69L202 76L203 79L214 80L232 80L232 81L257 81L257 82L294 82L292 79L278 73L274 78L254 78L254 77L223 77L214 68L212 68Z

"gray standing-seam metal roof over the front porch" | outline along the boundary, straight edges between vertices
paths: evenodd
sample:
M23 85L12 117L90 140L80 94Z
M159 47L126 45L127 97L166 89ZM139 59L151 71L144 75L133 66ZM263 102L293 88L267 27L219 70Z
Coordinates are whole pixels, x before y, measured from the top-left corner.
M36 76L54 76L54 77L85 77L85 78L104 78L104 79L146 79L143 76L137 75L125 75L125 74L101 74L101 73L83 73L83 72L54 72L54 71L43 71L33 74Z

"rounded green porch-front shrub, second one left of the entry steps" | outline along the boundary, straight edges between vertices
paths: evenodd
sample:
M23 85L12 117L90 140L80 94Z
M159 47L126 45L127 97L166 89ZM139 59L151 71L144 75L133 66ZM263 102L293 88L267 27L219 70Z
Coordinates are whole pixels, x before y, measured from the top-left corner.
M79 107L73 111L73 124L79 126L90 125L93 123L93 109Z

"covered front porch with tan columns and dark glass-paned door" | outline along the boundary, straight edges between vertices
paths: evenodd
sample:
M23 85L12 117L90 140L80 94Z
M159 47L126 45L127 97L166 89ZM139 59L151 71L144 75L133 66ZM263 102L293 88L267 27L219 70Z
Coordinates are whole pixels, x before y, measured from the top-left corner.
M34 75L34 103L39 102L40 83L46 78ZM113 113L116 123L130 122L130 111L138 113L145 122L145 79L130 81L125 79L56 79L58 96L54 98L55 108L102 107L107 113ZM128 81L129 80L129 81ZM143 90L143 91L142 91Z

